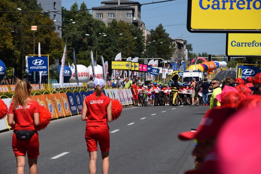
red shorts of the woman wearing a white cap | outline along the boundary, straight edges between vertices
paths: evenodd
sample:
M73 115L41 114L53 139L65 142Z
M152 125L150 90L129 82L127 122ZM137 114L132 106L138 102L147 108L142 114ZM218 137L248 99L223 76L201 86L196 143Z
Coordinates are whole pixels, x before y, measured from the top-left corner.
M97 151L97 141L102 152L110 150L110 133L108 127L89 126L86 127L85 140L88 152Z

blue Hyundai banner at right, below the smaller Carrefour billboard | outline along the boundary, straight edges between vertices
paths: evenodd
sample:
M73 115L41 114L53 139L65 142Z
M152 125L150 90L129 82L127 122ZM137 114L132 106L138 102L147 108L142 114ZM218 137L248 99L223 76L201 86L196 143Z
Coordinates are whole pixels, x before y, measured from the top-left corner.
M240 74L237 73L236 78L241 78L244 81L246 81L246 78L248 78L248 77L254 78L254 76L257 73L259 73L259 66L237 66L237 72L240 72L239 69L241 69L241 71L242 71L241 77L239 76Z

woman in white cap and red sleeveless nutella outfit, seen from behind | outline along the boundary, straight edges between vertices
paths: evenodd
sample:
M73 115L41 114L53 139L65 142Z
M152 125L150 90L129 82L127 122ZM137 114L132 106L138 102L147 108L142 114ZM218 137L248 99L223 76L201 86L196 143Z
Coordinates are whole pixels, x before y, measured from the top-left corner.
M90 156L89 173L96 173L97 142L102 157L102 173L109 173L110 134L108 122L112 121L112 100L102 93L104 80L95 78L95 92L83 102L81 120L86 120L85 140Z

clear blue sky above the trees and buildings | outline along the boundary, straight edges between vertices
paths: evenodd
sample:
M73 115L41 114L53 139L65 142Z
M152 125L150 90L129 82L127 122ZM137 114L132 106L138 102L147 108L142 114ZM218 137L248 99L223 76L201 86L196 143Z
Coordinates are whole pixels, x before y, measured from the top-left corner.
M140 4L160 2L161 0L136 0ZM80 6L85 2L88 9L101 6L101 0L62 0L62 6L66 9L77 2ZM92 13L92 10L90 10ZM176 0L141 6L141 20L146 29L155 29L159 24L169 33L170 37L182 38L192 44L193 52L198 54L224 54L226 48L226 35L224 33L191 33L187 31L187 0Z

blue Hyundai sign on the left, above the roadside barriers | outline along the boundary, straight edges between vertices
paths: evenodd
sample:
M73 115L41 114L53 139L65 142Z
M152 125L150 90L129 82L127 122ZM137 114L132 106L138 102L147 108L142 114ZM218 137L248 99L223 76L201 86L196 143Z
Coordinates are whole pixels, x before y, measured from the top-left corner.
M28 71L48 71L48 57L28 57Z

